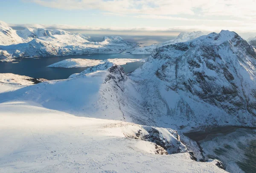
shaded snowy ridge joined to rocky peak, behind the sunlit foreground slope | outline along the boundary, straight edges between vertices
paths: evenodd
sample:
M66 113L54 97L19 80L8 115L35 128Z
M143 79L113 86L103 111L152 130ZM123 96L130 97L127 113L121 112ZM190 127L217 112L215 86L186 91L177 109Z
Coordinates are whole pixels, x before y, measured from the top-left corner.
M256 50L235 32L156 48L131 74L112 65L23 88L7 98L79 116L168 128L256 125ZM66 87L68 92L57 89Z

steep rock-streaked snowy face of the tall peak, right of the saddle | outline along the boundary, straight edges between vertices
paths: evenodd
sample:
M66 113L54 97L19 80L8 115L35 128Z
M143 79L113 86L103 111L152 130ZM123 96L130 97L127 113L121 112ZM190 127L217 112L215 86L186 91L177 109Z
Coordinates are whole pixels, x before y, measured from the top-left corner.
M156 48L131 78L151 93L144 95L155 114L256 125L256 49L235 32Z

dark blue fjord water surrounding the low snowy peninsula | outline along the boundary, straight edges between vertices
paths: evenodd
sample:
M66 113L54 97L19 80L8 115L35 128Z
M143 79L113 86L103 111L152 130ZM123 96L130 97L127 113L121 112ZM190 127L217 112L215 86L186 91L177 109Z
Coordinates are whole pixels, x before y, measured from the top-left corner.
M84 58L106 60L110 58L130 58L143 59L149 55L146 54L91 54L91 55L70 55L60 57L39 57L39 58L20 58L15 62L0 62L0 73L13 73L25 75L34 78L67 79L71 74L80 73L88 67L83 68L50 68L47 67L55 62L70 58ZM126 73L134 71L140 67L142 62L131 62L122 65Z

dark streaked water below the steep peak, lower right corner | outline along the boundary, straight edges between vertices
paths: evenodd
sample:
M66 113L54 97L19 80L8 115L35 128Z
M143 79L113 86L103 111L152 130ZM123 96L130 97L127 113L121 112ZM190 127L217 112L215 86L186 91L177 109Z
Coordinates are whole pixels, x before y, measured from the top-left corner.
M234 126L186 133L202 147L206 159L218 159L229 172L256 173L256 129Z

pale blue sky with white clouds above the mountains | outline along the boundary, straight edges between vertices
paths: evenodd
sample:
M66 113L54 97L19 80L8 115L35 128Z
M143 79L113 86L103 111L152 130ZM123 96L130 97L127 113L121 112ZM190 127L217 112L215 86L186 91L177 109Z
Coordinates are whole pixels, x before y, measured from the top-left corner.
M0 20L12 26L160 36L221 29L256 32L256 0L0 1Z

